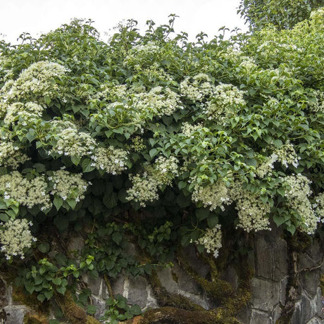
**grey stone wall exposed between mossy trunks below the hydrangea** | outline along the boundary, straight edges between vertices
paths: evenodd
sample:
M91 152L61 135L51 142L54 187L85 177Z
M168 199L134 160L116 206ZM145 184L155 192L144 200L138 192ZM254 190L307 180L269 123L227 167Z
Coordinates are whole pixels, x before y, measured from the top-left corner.
M77 239L77 238L76 238ZM73 245L73 242L70 244ZM76 242L75 246L79 246ZM280 230L260 232L254 237L254 256L249 264L254 268L251 279L252 298L249 305L239 313L239 320L244 324L275 324L280 318L287 300L289 288L289 255L287 242L282 239ZM187 249L187 262L202 277L208 277L209 268L197 259L194 249ZM323 251L318 243L313 243L305 253L299 254L299 289L294 303L290 324L324 323L323 297L319 287L320 274L324 273ZM211 309L216 305L208 299L197 282L174 262L172 269L158 270L158 278L168 292L181 294L194 303ZM235 268L229 266L221 274L234 289L238 285ZM96 318L104 315L108 298L108 289L103 279L82 278L92 290L92 301L96 305ZM114 294L122 294L129 304L138 304L142 309L156 308L151 287L145 278L125 278L120 275L111 282ZM0 323L1 316L6 316L4 323L23 324L23 317L28 311L26 306L13 304L10 287L0 278Z

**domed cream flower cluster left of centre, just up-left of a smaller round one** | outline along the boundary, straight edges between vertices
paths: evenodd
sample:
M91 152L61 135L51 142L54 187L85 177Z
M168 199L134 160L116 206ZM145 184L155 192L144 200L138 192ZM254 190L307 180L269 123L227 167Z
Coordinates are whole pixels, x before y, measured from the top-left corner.
M51 152L65 156L85 156L92 154L96 141L87 132L78 132L77 127L67 127L56 134L58 141ZM51 153L50 152L50 153Z

